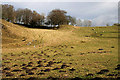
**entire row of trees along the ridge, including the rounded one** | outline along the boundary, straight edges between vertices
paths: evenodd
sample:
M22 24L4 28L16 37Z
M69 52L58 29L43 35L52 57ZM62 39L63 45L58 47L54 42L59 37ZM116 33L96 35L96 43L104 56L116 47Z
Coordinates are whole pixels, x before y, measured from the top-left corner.
M80 19L77 20L75 17L67 15L67 12L64 10L54 9L45 17L45 15L28 8L15 10L14 6L8 4L2 5L2 19L12 23L30 25L32 27L43 25L59 26L64 24L83 25ZM91 26L91 21L84 20L84 25Z

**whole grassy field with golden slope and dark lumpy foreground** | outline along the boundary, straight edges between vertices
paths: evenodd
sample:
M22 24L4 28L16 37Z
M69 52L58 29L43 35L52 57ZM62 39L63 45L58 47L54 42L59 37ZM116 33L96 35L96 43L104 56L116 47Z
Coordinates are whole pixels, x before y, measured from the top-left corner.
M4 20L2 25L3 78L119 76L117 26L48 30Z

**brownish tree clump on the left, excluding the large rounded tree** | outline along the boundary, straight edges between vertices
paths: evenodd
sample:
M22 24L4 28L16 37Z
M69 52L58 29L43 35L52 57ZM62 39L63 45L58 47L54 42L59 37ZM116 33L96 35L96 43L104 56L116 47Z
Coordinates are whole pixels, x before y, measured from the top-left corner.
M36 11L30 9L17 9L15 10L12 5L2 5L2 19L5 19L12 23L20 23L31 26L42 25L44 16L40 15Z

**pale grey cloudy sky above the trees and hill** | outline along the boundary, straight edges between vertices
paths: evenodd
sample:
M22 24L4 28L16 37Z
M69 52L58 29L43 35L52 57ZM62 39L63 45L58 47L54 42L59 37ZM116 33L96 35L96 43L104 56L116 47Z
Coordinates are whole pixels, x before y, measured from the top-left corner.
M29 8L38 13L48 13L53 9L67 11L67 15L77 19L92 20L93 25L105 26L118 22L118 2L4 2L18 8Z

